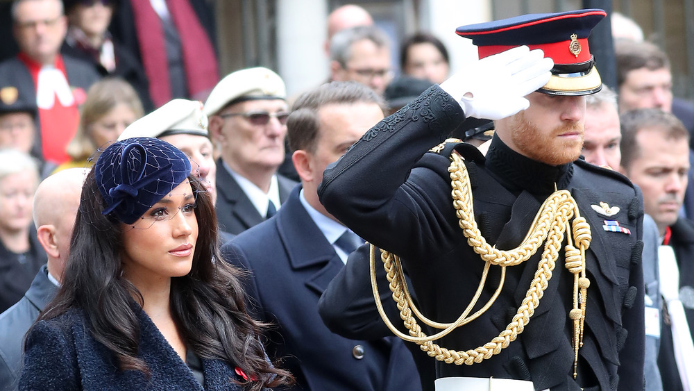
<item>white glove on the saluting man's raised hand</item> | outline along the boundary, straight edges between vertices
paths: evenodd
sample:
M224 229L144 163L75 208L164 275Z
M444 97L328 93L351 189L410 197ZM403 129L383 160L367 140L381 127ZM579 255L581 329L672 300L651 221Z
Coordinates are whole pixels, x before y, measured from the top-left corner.
M441 83L441 88L460 104L466 117L502 119L525 110L525 95L550 80L551 58L541 49L527 46L495 54L466 66Z

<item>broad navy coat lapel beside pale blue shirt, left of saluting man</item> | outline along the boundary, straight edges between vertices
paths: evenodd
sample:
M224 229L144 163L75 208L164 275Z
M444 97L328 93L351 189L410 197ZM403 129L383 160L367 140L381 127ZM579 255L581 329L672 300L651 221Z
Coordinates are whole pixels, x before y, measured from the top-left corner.
M295 270L305 269L305 284L320 295L344 263L301 204L300 190L301 186L296 186L291 191L276 222L289 265Z

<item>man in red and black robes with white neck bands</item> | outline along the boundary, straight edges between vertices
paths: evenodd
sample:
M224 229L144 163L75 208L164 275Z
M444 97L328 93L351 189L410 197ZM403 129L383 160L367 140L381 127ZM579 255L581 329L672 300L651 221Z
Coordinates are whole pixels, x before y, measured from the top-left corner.
M0 63L0 85L13 86L36 102L35 155L63 163L69 160L65 147L77 131L78 106L99 75L90 64L60 55L67 31L62 1L15 1L12 20L20 52Z

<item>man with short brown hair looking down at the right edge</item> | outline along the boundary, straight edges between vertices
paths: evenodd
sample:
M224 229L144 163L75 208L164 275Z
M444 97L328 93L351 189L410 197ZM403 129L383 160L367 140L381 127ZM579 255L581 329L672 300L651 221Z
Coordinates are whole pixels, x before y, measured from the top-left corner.
M688 328L679 326L688 330L691 338L694 333L694 224L678 214L690 181L689 133L675 115L652 108L624 113L620 122L621 171L643 191L645 212L655 220L661 244L675 251L679 281L675 274L668 275L668 270L661 268L661 292L663 286L677 288ZM668 297L665 299L667 301ZM663 390L686 390L688 387L683 388L680 377L686 369L680 367L683 363L675 358L675 344L687 342L675 339L667 304L662 312L658 365Z

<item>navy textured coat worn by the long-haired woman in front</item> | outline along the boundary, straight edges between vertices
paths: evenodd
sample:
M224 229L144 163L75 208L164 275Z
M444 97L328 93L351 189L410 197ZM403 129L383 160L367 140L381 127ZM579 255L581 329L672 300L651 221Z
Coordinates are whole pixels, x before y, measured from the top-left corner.
M119 370L113 353L90 333L85 315L72 309L29 331L19 390L243 390L233 382L243 381L233 365L207 358L201 358L203 388L144 310L132 305L140 328L137 356L149 366L149 378Z

